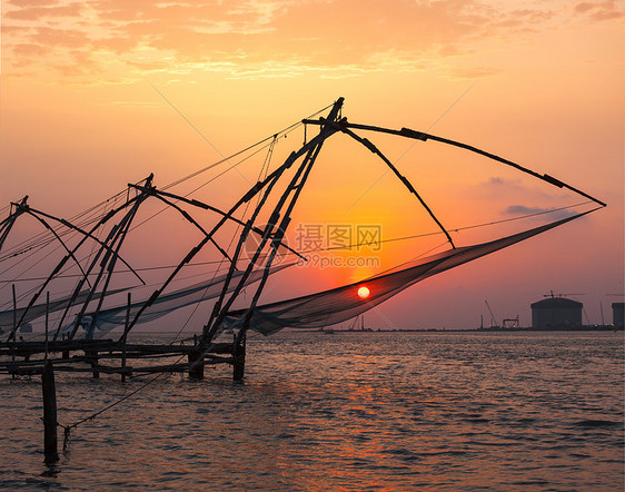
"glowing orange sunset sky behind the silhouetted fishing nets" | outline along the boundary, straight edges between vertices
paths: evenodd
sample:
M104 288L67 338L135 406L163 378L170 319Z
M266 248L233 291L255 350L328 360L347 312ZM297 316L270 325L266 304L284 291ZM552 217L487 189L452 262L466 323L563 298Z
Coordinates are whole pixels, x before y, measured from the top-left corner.
M549 289L584 294L592 323L603 303L609 322L622 297L606 294L624 288L624 12L616 1L6 0L0 206L28 194L69 217L151 171L170 183L218 160L215 148L231 154L344 96L351 121L434 125L609 205L410 288L378 308L386 321L369 316L374 327L475 326L484 298L527 325L529 303ZM393 160L411 146L379 141ZM297 134L280 146L299 144ZM300 220L379 222L385 237L433 230L390 175L354 205L384 165L345 139L327 147ZM398 167L449 227L581 201L437 144L411 148ZM241 173L252 181L258 167ZM234 201L246 184L228 179L202 199ZM389 247L383 267L424 249ZM311 275L306 283L325 285Z

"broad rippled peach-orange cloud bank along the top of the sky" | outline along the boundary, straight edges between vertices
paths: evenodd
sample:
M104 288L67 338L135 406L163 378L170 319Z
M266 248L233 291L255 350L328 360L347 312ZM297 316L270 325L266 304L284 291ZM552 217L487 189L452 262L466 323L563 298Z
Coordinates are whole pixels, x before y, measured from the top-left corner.
M463 57L476 43L535 28L550 17L546 9L505 10L477 0L7 0L4 27L19 30L7 31L3 42L13 52L23 51L20 45L44 46L47 57L19 65L62 67L66 73L72 60L87 60L76 72L100 76L115 58L133 73L157 69L167 59L177 73L297 77L318 71L339 78L421 70L442 55ZM453 77L493 73L494 68L473 67Z

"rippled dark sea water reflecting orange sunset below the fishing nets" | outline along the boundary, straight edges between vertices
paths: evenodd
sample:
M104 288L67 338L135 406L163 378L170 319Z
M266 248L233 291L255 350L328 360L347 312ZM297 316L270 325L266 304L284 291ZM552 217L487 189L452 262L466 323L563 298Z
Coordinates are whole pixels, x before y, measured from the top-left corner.
M143 336L143 341L162 342ZM0 488L623 490L624 340L604 333L279 334L158 380L43 465L40 380L0 380ZM59 422L147 378L57 374Z

